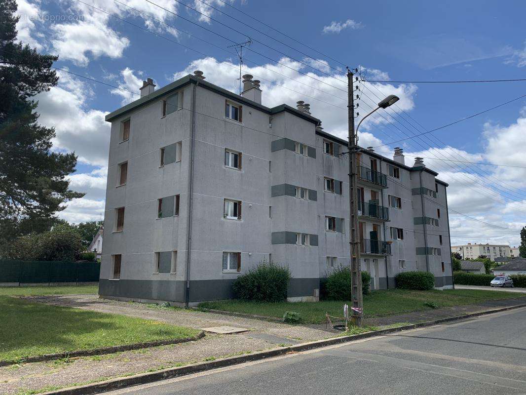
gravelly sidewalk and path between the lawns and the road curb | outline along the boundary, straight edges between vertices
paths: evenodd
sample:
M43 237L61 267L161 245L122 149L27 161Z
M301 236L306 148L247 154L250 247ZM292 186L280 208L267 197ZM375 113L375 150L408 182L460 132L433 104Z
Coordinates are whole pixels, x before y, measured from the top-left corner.
M229 325L246 328L249 331L228 335L207 333L204 339L196 342L103 356L2 367L0 368L0 393L6 395L37 393L31 391L44 392L67 386L78 386L89 382L130 376L140 372L157 371L169 367L184 366L189 363L211 361L225 356L273 349L280 345L327 339L340 333L334 330L325 330L325 325L288 325L210 312L152 308L139 303L98 299L97 295L60 295L28 297L27 299L80 309L155 319L186 327L207 328ZM417 323L525 303L526 298L498 300L477 305L463 305L448 309L371 318L367 319L366 323L374 325L389 325L399 322Z

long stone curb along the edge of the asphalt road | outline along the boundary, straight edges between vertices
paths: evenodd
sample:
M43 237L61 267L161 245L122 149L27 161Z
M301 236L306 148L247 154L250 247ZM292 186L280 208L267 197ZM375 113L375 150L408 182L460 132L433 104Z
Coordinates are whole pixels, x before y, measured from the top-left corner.
M255 352L252 354L246 354L244 356L221 358L221 359L210 361L210 362L199 362L199 363L191 364L185 367L168 368L168 369L159 370L153 373L140 373L140 374L136 374L135 376L101 381L98 383L88 384L82 387L69 387L69 388L64 388L62 390L45 392L42 395L91 395L91 394L96 394L96 393L101 393L101 392L106 392L106 391L113 391L113 390L122 389L126 387L138 386L139 384L147 384L147 383L160 381L160 380L173 379L176 377L186 376L188 374L203 372L206 370L224 368L224 367L235 365L235 364L251 362L251 361L258 361L258 360L272 358L272 357L278 357L278 356L282 356L290 352L307 351L307 350L312 350L316 348L327 347L329 345L347 343L347 342L354 341L354 340L367 339L367 338L372 338L372 337L385 335L389 333L401 332L404 330L431 327L432 325L437 325L437 324L441 324L444 322L459 321L459 320L464 320L464 319L471 318L471 317L480 317L481 315L499 313L502 311L519 309L522 307L526 307L526 303L504 307L504 308L499 308L499 309L484 310L484 311L479 311L475 313L457 315L456 317L441 318L439 320L434 320L434 321L427 321L427 322L420 322L416 324L404 325L403 327L380 329L378 331L371 331L371 332L361 333L357 335L341 336L338 338L331 338L331 339L326 339L326 340L317 340L317 341L312 341L312 342L307 342L307 343L291 345L289 347L279 347L279 348L268 350L268 351L259 351L259 352Z

